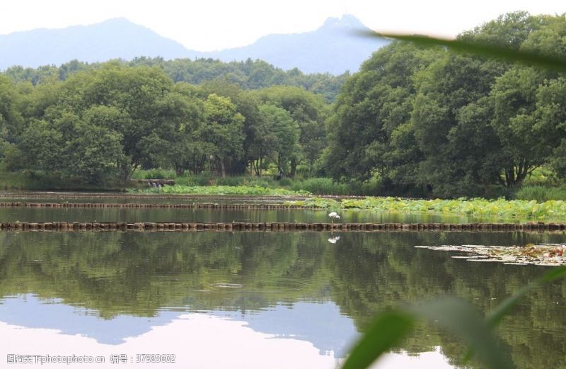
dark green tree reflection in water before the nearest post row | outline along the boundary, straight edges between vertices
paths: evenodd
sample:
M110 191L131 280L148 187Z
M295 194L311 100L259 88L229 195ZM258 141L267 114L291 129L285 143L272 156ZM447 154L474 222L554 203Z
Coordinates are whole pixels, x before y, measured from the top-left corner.
M48 233L0 234L0 296L33 293L68 305L154 316L163 308L250 312L333 300L364 330L374 314L405 302L459 295L484 312L540 276L540 266L451 259L419 244L556 242L523 233ZM226 288L227 284L238 288ZM240 287L241 286L241 287ZM498 334L519 368L565 365L566 288L545 285L521 301ZM328 322L332 324L332 322ZM400 349L465 348L422 325Z

